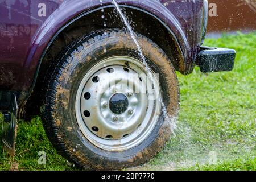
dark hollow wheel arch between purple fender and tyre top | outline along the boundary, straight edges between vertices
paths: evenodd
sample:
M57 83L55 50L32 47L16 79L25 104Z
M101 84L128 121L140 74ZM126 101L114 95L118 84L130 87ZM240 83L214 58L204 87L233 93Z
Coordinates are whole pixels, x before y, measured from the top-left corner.
M134 31L144 36L147 36L147 38L151 39L153 42L158 44L158 46L162 48L164 52L167 53L168 56L172 55L173 57L175 57L174 60L171 60L172 64L174 64L174 67L177 71L185 74L186 65L185 65L185 58L184 58L185 57L184 42L186 42L187 40L184 40L184 38L178 39L178 37L180 36L177 35L179 33L176 32L176 30L179 28L168 27L167 24L164 23L161 19L159 19L158 17L149 13L146 10L139 9L138 7L128 6L128 5L122 5L122 7L126 9L126 14L128 14L127 16L129 16L129 19L132 19L131 22L133 22L132 26L134 28ZM101 9L114 9L114 7L112 5L108 5L108 6L96 8L90 11L85 11L84 13L81 13L76 18L68 20L68 22L63 27L61 27L60 30L58 30L55 33L55 35L52 36L52 39L47 44L46 48L42 53L42 56L40 57L40 62L38 64L38 71L36 73L36 76L38 76L38 73L42 71L41 65L48 59L47 56L48 54L51 54L50 52L51 49L56 48L57 44L61 44L60 39L63 39L61 38L61 36L64 35L65 38L71 39L73 41L79 36L84 35L84 33L88 34L89 32L96 31L99 28L123 27L123 24L121 23L121 20L119 19L119 17L115 17L118 20L113 23L107 22L106 27L103 26L103 22L100 22L100 21L97 22L95 20L91 20L90 18L92 17L94 17L94 19L100 19L99 14L101 14L100 13ZM79 35L77 34L76 31L73 31L73 30L77 28L77 26L81 26L80 24L81 22L84 22L84 25L87 24L88 26L90 26L90 28L84 28L84 31L82 31L81 35ZM93 26L93 23L96 23L97 26L101 24L102 27ZM172 30L172 29L175 29L175 30ZM80 30L81 29L79 29L79 31ZM174 31L176 32L176 34L174 33Z

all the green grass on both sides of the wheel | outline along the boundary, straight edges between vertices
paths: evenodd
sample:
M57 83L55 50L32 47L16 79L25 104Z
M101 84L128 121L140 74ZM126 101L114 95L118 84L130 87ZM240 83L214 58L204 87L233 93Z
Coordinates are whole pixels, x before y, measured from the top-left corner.
M207 39L207 46L236 49L232 72L178 73L181 89L179 128L156 158L133 169L255 170L256 32ZM1 120L1 117L0 117ZM22 170L74 170L49 143L40 118L18 122L16 156L0 151L0 170L18 163ZM38 164L46 151L47 164Z

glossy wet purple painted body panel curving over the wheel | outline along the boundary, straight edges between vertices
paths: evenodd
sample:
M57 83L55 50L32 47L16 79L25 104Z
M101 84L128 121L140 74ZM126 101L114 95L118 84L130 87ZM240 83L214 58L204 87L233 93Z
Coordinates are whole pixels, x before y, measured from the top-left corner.
M46 16L39 16L40 3ZM203 0L117 1L159 18L175 34L187 73L201 44ZM49 42L65 24L81 13L112 5L96 0L0 0L0 90L31 90L40 59Z

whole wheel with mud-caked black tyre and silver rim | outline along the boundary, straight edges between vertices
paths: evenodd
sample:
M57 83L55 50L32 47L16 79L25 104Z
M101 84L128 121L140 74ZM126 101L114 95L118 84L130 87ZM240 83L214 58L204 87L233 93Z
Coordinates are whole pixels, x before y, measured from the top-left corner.
M138 166L170 139L167 114L175 121L179 110L176 73L162 49L137 39L148 70L128 32L101 30L72 43L46 75L44 128L77 166Z

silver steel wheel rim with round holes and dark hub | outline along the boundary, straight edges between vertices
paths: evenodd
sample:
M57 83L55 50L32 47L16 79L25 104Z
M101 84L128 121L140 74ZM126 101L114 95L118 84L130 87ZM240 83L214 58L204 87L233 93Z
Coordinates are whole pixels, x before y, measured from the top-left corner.
M158 78L154 77L152 84L144 69L133 57L114 56L94 65L82 79L76 94L76 118L82 134L94 146L107 151L128 150L154 129L162 96ZM123 110L112 104L117 95L123 98ZM120 113L114 113L113 108Z

